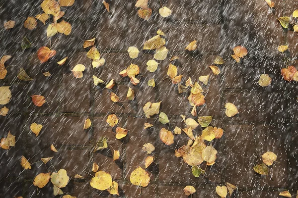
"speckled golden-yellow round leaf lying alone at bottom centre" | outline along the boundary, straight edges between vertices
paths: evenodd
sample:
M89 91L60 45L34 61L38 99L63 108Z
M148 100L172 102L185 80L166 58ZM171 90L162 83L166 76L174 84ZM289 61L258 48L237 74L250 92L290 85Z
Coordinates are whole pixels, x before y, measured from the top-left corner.
M149 174L140 166L131 173L129 179L133 185L142 187L147 187L150 182Z

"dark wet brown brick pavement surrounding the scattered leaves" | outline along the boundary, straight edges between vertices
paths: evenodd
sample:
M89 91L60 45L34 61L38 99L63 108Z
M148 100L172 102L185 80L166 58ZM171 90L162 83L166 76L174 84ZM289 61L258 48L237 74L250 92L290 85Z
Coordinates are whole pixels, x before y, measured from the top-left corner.
M276 20L280 16L290 16L298 9L298 1L275 0L275 12L263 0L161 0L173 12L169 18L158 14L160 3L150 0L152 15L144 21L137 15L135 0L107 0L108 13L100 0L75 0L67 7L64 20L72 24L69 36L62 34L46 36L46 26L38 22L30 31L23 27L25 18L42 13L41 0L1 0L0 24L8 20L16 22L9 31L0 30L0 53L11 55L5 63L8 74L0 80L0 86L9 86L11 101L6 104L9 113L0 116L0 134L5 137L10 131L16 136L16 145L10 150L0 150L0 197L35 198L34 177L41 173L55 171L49 164L32 164L31 170L23 170L19 159L24 155L31 163L41 157L54 156L51 161L58 170L64 168L71 177L63 188L64 195L77 198L112 197L108 192L90 187L92 164L99 164L99 170L111 174L119 183L120 196L135 198L180 198L186 197L183 188L193 185L197 191L193 198L218 198L215 188L229 182L239 187L233 198L275 198L279 192L289 190L296 195L298 190L298 108L297 82L282 79L281 68L294 65L297 68L298 33L283 30ZM127 49L135 46L142 49L149 38L161 29L165 33L168 58L158 65L158 70L149 73L146 62L153 53L142 50L137 59L132 60ZM20 44L26 37L33 48L22 50ZM83 40L96 38L97 49L105 58L104 66L92 69L91 61L82 48ZM198 41L195 53L184 49L193 40ZM36 51L42 46L52 46L57 51L54 58L40 63ZM290 53L277 50L280 45L289 44ZM244 46L248 55L236 63L231 57L235 46ZM148 101L160 101L160 111L170 118L169 130L175 126L184 128L180 114L191 117L188 95L178 95L177 86L166 79L169 58L179 56L175 62L183 81L190 76L193 82L201 75L211 74L206 106L198 108L199 116L212 115L212 124L224 129L224 136L212 144L218 150L218 159L212 167L207 167L206 177L195 178L191 167L181 158L174 156L174 149L187 143L186 134L175 136L175 144L165 146L158 137L164 127L157 115L152 118L138 116ZM220 65L222 73L214 76L209 69L216 55L226 60ZM66 64L58 66L57 61L69 56ZM109 90L94 86L92 75L104 81L114 78L117 85L113 92L125 99L132 85L118 73L133 62L139 65L141 83L134 86L136 99L123 102L123 107L113 104ZM75 79L70 71L74 65L84 64L84 77ZM23 67L34 80L21 81L16 78L19 67ZM44 77L42 72L52 75ZM269 74L273 79L268 87L260 87L260 74ZM154 77L156 87L148 87L147 81ZM49 105L34 106L31 95L46 97ZM224 104L233 102L239 114L228 118L224 114ZM2 106L0 106L2 107ZM119 125L129 130L128 137L119 141L106 125L108 114L116 113ZM84 120L89 117L92 127L83 130ZM30 124L36 122L44 127L38 137L30 132ZM155 123L153 129L144 130L145 122ZM168 126L166 126L168 127ZM194 134L201 134L200 126ZM110 149L92 152L96 142L107 137ZM142 151L145 143L155 146L155 165L149 167L151 173L147 188L132 186L130 173L139 165L144 166L148 156ZM59 152L50 150L54 144ZM112 147L119 149L121 160L112 158ZM270 166L269 176L260 176L253 166L261 163L260 156L273 151L278 158ZM86 172L84 172L86 171ZM74 179L80 174L86 179ZM51 182L39 189L39 197L53 197ZM62 197L62 196L61 196Z

